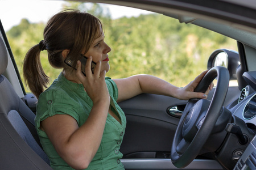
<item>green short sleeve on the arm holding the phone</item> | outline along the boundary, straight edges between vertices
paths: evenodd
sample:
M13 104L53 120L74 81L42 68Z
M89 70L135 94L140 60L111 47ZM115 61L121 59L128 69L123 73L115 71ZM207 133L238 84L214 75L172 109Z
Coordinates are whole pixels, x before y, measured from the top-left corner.
M37 130L40 128L40 122L47 117L55 114L68 114L79 122L79 114L77 114L77 104L63 90L51 89L44 91L38 100L36 108L35 125Z

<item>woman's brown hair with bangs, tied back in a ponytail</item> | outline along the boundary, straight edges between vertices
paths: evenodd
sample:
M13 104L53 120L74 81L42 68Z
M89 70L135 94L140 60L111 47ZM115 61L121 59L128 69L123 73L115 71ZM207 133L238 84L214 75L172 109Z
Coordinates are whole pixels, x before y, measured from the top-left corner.
M31 92L38 98L49 83L49 77L44 73L40 62L41 50L47 50L48 61L52 67L67 69L61 52L64 49L70 50L68 57L74 61L75 67L82 50L88 52L93 41L101 35L102 24L91 14L65 10L53 15L44 28L44 41L28 50L24 58L24 80ZM41 43L43 49L40 49Z

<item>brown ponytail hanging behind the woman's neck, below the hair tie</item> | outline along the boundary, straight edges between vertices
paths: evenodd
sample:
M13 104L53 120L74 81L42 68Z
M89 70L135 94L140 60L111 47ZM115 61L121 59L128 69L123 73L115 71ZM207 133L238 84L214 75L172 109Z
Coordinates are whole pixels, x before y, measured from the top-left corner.
M40 62L41 49L39 46L39 44L35 45L28 50L23 62L25 83L37 98L49 84L49 77L44 73Z

